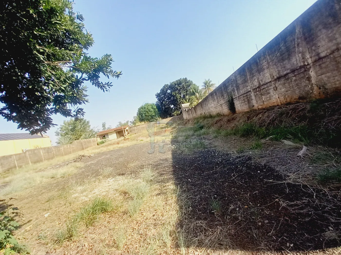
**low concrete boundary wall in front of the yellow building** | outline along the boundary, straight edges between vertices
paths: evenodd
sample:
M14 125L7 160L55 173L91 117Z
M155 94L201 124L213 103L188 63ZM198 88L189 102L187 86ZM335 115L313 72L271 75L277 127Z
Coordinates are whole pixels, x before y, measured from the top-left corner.
M97 145L96 138L91 138L84 140L76 140L69 145L58 145L46 148L38 148L27 150L23 153L1 156L0 172L13 168L19 168L33 163L44 162L45 160L82 151L95 145Z

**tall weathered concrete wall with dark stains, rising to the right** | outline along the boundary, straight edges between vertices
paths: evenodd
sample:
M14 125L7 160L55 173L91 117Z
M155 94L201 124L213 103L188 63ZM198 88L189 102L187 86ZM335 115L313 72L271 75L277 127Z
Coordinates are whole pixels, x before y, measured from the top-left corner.
M184 119L341 96L341 1L318 0Z

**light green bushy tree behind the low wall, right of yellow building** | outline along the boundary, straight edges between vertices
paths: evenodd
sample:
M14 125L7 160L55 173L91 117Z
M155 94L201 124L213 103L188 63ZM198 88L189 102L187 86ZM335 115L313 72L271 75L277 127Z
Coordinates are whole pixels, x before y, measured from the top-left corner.
M72 137L72 142L74 140L93 138L96 136L97 131L91 128L90 121L80 118L64 120L63 124L60 125L55 133L59 138Z

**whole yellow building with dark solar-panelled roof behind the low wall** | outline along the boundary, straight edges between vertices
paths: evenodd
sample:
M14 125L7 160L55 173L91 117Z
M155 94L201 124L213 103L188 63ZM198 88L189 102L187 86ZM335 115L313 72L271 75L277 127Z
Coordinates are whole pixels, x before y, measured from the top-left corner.
M29 133L0 134L0 156L50 146L51 140L47 135L42 137L41 135L30 135Z

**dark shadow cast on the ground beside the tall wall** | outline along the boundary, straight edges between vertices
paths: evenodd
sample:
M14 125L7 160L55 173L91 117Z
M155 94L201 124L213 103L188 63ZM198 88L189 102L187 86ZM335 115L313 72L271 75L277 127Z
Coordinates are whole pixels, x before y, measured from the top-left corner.
M250 156L203 149L172 157L187 247L308 251L340 244L341 199L332 192L287 182Z

